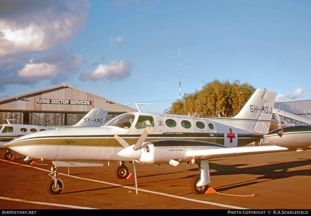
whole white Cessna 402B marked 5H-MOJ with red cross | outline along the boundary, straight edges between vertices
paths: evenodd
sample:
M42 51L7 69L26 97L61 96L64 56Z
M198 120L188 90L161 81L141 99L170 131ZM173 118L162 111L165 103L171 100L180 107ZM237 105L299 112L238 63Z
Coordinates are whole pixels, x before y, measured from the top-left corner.
M268 133L276 92L257 89L233 118L139 112L112 118L98 128L64 128L29 134L6 144L31 158L52 160L50 194L59 194L63 182L59 166L103 166L120 161L115 173L126 178L125 161L142 164L197 163L201 175L191 183L193 193L202 194L210 183L208 160L217 157L288 151L279 146L244 146ZM122 150L122 151L121 151ZM121 161L123 163L121 163ZM136 192L137 181L134 165Z

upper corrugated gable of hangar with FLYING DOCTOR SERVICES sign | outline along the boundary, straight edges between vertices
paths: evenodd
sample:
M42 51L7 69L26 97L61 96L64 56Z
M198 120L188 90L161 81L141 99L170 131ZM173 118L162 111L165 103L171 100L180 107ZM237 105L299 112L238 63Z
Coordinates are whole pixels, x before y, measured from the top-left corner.
M0 110L10 111L88 112L92 108L105 109L111 113L138 111L65 83L0 100Z

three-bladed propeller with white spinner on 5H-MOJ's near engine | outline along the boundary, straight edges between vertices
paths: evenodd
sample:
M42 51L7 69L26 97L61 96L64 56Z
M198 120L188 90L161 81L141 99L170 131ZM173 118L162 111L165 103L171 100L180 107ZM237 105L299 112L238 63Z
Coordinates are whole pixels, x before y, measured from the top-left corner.
M124 155L126 155L126 158L132 159L133 166L134 166L134 176L135 176L135 188L136 188L136 194L137 194L137 178L136 178L136 169L135 169L135 159L139 159L141 152L137 151L142 144L145 142L146 137L148 136L148 133L150 131L150 127L147 127L147 129L142 133L142 135L137 140L136 144L133 148L128 148L130 145L128 142L126 142L124 139L119 137L118 135L114 135L114 138L124 147L123 152L125 152ZM121 152L120 151L120 152ZM120 153L119 152L119 153ZM118 155L119 155L118 153ZM123 154L120 154L119 156L123 156Z

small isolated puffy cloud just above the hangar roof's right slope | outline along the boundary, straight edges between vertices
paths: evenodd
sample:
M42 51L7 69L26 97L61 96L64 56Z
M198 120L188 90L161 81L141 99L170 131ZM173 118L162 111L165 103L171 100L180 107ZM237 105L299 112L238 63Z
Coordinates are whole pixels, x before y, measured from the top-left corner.
M94 71L86 70L79 76L80 80L100 80L107 79L111 81L123 80L130 76L133 65L125 60L112 61L109 65L100 64Z

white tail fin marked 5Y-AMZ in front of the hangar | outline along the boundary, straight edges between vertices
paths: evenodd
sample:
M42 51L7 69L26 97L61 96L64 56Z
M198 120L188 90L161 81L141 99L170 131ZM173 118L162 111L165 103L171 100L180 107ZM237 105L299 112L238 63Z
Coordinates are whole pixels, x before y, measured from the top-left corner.
M108 111L91 109L77 124L72 127L100 127L104 124Z

